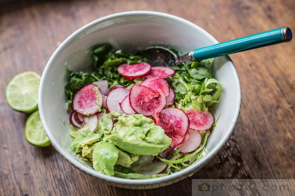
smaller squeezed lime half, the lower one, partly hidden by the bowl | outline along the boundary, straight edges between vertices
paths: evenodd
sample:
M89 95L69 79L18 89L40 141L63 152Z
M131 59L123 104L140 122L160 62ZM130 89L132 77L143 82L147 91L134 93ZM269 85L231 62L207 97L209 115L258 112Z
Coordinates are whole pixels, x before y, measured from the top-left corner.
M42 126L38 110L27 119L24 135L27 141L33 145L45 147L51 144Z

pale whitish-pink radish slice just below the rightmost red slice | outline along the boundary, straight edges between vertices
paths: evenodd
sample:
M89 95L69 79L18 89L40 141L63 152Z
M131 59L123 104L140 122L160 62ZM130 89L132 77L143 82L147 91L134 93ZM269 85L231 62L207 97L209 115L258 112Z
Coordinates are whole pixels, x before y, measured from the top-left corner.
M190 153L196 150L202 142L202 136L199 131L189 130L189 138L179 146L181 153Z

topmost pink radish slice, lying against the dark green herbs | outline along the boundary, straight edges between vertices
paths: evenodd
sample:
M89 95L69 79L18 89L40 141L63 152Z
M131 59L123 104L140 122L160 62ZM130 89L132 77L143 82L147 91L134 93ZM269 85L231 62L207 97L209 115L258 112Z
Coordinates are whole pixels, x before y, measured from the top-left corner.
M132 65L122 64L117 71L126 79L141 78L150 73L151 65L145 62L135 63Z

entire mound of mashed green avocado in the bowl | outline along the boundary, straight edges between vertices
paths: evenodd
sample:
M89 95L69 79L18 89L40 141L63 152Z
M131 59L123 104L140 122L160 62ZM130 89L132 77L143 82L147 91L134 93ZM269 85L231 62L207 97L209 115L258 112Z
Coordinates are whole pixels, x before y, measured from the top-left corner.
M112 129L110 120L118 120ZM81 129L71 126L69 133L73 138L71 148L106 175L114 175L115 165L130 168L140 155L157 155L171 143L160 126L141 114L119 116L111 112L103 115L94 132L84 125Z

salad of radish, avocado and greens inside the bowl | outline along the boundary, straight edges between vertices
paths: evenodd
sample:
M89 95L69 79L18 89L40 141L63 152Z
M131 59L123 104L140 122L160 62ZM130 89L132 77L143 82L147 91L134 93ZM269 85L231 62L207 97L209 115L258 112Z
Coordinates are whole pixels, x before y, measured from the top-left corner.
M209 110L222 93L211 75L214 59L151 66L108 43L91 58L93 70L68 70L65 86L71 149L81 160L106 175L146 179L206 155L219 118Z

